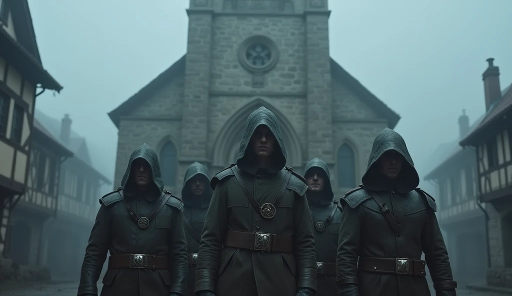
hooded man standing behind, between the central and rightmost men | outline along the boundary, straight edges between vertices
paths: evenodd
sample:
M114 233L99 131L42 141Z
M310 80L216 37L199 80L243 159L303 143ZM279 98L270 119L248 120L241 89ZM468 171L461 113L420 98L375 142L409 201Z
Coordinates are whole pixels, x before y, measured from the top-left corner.
M338 247L339 222L342 209L333 201L331 179L327 163L313 158L304 167L308 185L309 212L314 225L316 250L317 296L336 294L336 249Z

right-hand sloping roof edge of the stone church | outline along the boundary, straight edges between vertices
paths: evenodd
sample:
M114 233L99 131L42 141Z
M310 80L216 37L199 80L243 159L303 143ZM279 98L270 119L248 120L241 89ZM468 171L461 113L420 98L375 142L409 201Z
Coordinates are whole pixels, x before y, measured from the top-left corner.
M349 88L354 94L365 101L376 113L383 118L388 120L388 128L394 129L400 115L396 114L391 108L389 108L384 102L379 100L374 94L372 94L367 88L365 88L361 82L350 75L342 66L340 66L334 59L331 58L331 75L337 77L343 81L343 84Z

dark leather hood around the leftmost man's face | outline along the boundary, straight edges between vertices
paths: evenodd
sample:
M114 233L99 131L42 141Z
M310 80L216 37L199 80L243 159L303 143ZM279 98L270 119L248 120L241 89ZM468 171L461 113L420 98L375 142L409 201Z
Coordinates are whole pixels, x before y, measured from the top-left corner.
M146 143L139 146L134 150L130 156L130 161L126 167L123 178L121 179L121 187L123 187L123 194L125 196L132 196L135 193L135 187L137 184L133 181L133 170L132 163L135 159L142 158L150 165L151 168L151 180L149 187L150 195L153 198L159 197L163 192L163 181L162 173L160 172L160 164L158 162L158 156L150 146Z

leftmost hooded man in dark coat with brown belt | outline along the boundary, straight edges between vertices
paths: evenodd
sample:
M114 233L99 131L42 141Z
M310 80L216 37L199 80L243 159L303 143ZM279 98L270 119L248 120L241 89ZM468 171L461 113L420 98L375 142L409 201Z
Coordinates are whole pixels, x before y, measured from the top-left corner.
M80 273L78 295L97 295L110 251L102 296L186 294L187 246L183 203L163 189L158 157L143 144L130 157L122 187L103 196Z

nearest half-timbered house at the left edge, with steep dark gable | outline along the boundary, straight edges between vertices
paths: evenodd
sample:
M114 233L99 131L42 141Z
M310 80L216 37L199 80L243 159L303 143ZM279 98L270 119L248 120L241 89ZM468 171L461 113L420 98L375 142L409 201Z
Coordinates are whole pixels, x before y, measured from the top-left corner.
M27 0L0 1L0 255L27 190L36 97L62 87L42 67Z

